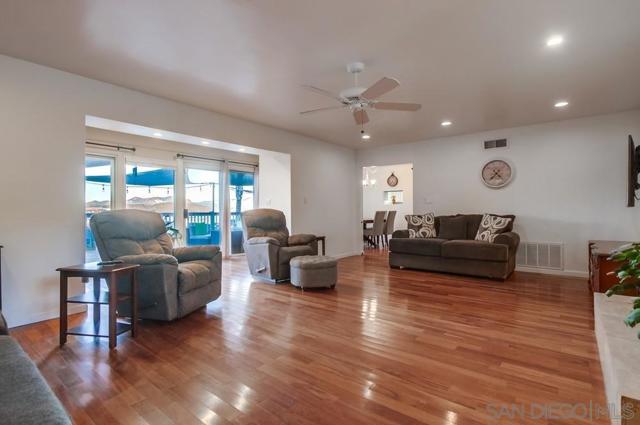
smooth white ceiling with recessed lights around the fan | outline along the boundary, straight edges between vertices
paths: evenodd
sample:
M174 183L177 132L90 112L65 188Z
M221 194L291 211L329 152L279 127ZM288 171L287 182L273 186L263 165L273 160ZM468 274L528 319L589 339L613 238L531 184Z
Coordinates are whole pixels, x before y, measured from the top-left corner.
M639 0L3 0L0 53L356 148L640 107ZM423 108L299 115L354 60Z

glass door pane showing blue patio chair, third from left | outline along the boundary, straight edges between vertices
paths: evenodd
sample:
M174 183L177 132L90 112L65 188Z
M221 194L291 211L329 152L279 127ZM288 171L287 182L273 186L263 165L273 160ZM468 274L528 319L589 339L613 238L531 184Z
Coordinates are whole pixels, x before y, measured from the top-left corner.
M220 245L220 172L185 169L186 244Z

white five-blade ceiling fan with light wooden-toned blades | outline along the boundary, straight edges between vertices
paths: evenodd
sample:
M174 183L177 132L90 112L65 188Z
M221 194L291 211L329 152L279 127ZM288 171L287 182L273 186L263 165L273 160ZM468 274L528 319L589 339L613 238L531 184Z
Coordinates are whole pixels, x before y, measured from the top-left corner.
M358 74L364 70L362 62L353 62L347 65L347 71L353 74L354 87L342 90L339 94L331 93L328 90L318 87L305 85L302 86L314 93L330 97L340 102L338 106L329 106L326 108L311 109L302 111L300 114L312 114L315 112L330 111L333 109L349 109L353 114L356 125L364 126L369 122L367 109L384 109L388 111L417 111L422 107L419 103L405 102L381 102L378 100L380 96L390 92L400 85L395 78L383 77L369 88L358 86ZM364 130L362 131L364 134Z

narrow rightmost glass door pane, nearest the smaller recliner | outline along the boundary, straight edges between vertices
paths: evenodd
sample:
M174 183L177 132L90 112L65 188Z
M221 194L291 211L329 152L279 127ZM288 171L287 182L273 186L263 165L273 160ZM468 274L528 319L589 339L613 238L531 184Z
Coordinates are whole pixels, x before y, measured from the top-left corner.
M231 233L231 254L241 254L242 212L255 208L255 173L229 170L229 232Z

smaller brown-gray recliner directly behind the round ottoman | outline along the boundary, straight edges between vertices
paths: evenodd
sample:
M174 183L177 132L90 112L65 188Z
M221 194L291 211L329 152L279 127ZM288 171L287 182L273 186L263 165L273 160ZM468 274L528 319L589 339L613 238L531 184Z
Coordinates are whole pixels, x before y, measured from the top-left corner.
M272 282L289 280L289 261L301 255L318 255L315 235L289 236L284 213L260 208L242 213L244 252L254 277Z

